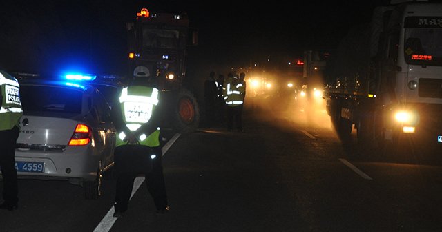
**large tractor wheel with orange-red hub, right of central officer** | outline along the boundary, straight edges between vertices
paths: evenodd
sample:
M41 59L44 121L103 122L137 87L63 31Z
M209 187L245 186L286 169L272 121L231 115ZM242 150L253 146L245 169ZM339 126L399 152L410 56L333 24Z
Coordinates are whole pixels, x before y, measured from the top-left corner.
M182 88L175 95L175 105L173 106L173 128L180 133L191 133L200 124L200 108L195 96Z

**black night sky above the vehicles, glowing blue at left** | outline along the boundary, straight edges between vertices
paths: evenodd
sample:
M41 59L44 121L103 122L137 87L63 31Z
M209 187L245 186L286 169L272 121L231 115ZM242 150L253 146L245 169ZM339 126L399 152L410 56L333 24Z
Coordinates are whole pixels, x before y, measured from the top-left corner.
M125 26L140 8L187 12L200 42L189 50L189 65L204 72L296 59L303 50L336 48L349 28L369 21L373 8L385 2L2 1L0 68L124 72Z

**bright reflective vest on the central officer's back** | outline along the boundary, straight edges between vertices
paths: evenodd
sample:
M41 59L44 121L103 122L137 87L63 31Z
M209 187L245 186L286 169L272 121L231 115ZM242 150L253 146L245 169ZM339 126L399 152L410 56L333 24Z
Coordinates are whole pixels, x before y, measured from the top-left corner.
M151 119L158 104L158 94L157 88L147 86L128 86L122 89L119 103L122 109L123 121L129 130L137 131L138 128ZM119 131L115 145L127 144L127 140L124 142L124 139L126 139L126 133ZM150 135L141 134L138 140L144 146L160 146L160 128L157 128Z

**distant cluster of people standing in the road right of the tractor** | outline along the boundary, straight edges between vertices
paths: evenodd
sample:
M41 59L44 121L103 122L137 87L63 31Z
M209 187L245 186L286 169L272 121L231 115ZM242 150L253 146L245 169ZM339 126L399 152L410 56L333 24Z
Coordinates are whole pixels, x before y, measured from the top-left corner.
M245 72L238 75L229 72L227 78L211 71L204 82L204 102L206 121L215 124L227 124L227 130L232 131L233 126L239 132L242 128L242 111L246 96Z

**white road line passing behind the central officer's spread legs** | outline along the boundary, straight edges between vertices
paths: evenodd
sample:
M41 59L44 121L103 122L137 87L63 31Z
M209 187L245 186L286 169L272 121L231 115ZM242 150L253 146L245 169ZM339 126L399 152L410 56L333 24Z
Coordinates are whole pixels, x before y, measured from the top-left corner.
M175 141L178 139L178 137L180 137L180 135L181 135L180 133L176 133L175 135L173 135L173 137L169 140L169 142L167 142L161 148L163 156L164 156L164 154L166 154L167 151L169 151L169 148L171 148L173 143L175 143ZM144 177L136 177L135 178L135 180L133 181L131 198L129 198L129 200L132 199L133 195L135 194L135 192L137 192L138 188L140 188L140 186L143 182L144 182ZM108 232L109 230L111 230L113 224L115 223L115 221L117 221L117 218L113 217L114 212L115 212L115 209L113 209L113 206L111 206L111 209L109 209L108 213L106 213L106 215L104 216L102 221L99 222L97 227L95 227L94 232Z

